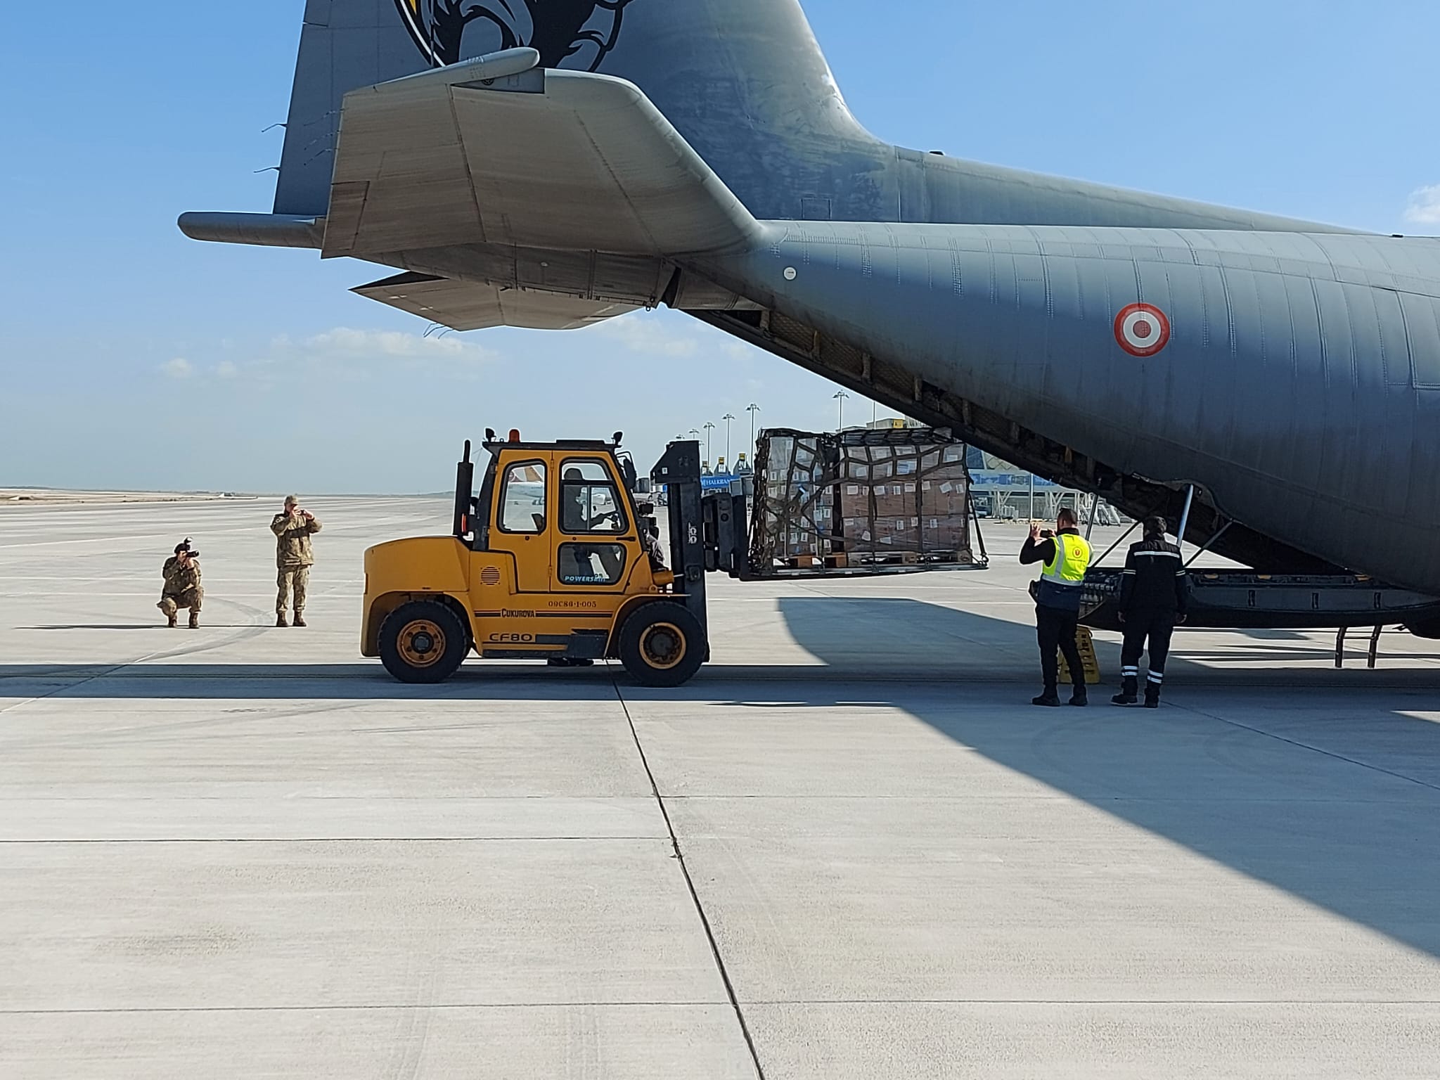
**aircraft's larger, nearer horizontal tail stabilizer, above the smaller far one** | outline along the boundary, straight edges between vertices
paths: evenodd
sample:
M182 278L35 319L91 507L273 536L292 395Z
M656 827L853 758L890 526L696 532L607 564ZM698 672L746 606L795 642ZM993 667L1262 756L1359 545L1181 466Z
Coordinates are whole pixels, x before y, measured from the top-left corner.
M491 85L485 85L490 82ZM749 212L629 82L467 65L346 95L324 255L742 248Z

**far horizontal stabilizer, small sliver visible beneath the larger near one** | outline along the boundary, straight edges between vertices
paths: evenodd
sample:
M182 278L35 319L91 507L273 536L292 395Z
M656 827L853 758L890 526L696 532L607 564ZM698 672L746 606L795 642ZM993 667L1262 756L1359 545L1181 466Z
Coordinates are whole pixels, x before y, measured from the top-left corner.
M397 274L384 281L360 285L353 292L451 330L491 327L579 330L635 310L626 304L503 289L474 281L433 278L428 274Z

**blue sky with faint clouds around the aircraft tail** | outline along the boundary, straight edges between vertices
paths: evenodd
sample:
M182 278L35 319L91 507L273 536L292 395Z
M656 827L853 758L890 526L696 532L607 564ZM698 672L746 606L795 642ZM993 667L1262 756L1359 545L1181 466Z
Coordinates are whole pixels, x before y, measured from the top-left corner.
M642 459L727 410L737 452L749 402L834 423L834 387L683 315L435 343L347 291L376 268L180 236L181 210L269 209L301 0L7 7L0 487L436 491L487 423L624 428ZM890 141L1440 232L1433 0L805 7Z

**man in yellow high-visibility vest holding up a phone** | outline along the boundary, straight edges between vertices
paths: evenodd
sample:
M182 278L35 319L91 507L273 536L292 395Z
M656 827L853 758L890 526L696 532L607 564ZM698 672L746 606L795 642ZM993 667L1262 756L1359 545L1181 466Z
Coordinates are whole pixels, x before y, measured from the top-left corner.
M1041 533L1038 524L1030 526L1030 539L1020 552L1025 566L1044 563L1040 580L1031 588L1035 598L1035 636L1040 641L1040 670L1045 677L1045 693L1032 698L1031 704L1060 704L1060 661L1056 649L1064 654L1070 667L1074 688L1070 704L1086 706L1084 667L1076 645L1076 625L1080 621L1080 599L1084 593L1084 573L1090 569L1090 544L1076 528L1073 510L1061 510L1056 520L1056 533Z

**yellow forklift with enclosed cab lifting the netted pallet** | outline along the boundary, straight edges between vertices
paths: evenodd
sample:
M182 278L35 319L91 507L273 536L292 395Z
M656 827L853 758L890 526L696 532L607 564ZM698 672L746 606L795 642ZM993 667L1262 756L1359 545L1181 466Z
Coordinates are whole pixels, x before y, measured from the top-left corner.
M710 660L706 572L749 576L744 497L704 492L700 444L670 444L651 471L665 490L667 564L621 441L487 431L478 495L467 442L451 536L364 554L361 654L403 683L442 683L471 651L553 665L618 660L642 685L688 681Z

